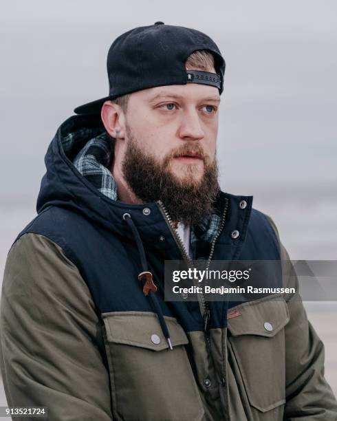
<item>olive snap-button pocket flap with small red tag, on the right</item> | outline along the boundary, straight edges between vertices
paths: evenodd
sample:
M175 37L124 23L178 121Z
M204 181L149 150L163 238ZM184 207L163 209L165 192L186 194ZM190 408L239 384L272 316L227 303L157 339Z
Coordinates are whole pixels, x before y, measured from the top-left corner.
M239 314L228 319L228 330L232 336L274 336L290 319L287 303L280 296L243 303L235 310Z

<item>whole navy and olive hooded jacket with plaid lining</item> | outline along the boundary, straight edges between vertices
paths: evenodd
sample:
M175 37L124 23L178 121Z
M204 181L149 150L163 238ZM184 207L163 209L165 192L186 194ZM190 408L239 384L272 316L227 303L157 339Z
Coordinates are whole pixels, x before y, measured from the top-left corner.
M187 259L184 245L161 202L116 199L104 139L94 116L58 128L37 215L8 253L8 404L47 407L49 420L63 421L336 420L323 343L298 292L164 301L164 260ZM252 197L222 191L215 215L193 226L191 247L205 261L289 260ZM138 279L144 270L157 285L149 296ZM296 282L283 271L283 286Z

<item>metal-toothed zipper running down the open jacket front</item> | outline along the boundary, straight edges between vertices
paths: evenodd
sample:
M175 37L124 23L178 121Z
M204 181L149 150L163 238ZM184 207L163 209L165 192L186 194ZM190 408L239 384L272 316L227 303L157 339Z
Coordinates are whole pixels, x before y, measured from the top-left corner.
M225 200L226 200L226 202L225 202L224 212L223 212L222 217L221 217L221 223L220 223L219 229L217 230L217 233L215 234L215 237L213 238L213 241L212 241L211 246L210 246L210 255L208 256L208 259L207 259L206 270L208 270L208 268L210 266L210 261L212 260L212 257L213 257L213 254L214 254L215 241L217 241L219 235L221 234L221 231L224 229L226 214L227 214L227 209L228 209L228 198L226 197ZM161 200L157 201L157 205L158 205L164 219L166 220L166 223L168 224L168 228L170 228L170 230L171 230L173 238L175 239L175 242L177 243L177 246L180 249L180 252L182 253L182 257L184 258L184 261L188 264L189 268L193 268L194 267L193 261L192 261L191 257L188 255L188 252L186 250L184 242L180 238L180 235L177 233L177 230L174 228L172 219L171 219L170 215L168 215L168 211L167 211L166 207L164 206L164 204ZM204 319L204 332L208 332L209 321L210 321L210 307L209 307L208 301L206 300L203 292L201 292L200 294L197 294L197 297L198 297L198 300L199 300L199 304L202 307L202 316L203 316L203 319ZM208 340L209 340L209 338L208 338Z

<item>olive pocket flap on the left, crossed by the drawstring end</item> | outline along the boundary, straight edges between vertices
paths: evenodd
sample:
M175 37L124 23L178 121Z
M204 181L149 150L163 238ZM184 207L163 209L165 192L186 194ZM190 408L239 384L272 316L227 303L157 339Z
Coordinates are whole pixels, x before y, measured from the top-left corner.
M107 340L162 351L168 348L157 315L151 312L109 312L102 314ZM185 345L188 338L174 317L164 316L173 347Z

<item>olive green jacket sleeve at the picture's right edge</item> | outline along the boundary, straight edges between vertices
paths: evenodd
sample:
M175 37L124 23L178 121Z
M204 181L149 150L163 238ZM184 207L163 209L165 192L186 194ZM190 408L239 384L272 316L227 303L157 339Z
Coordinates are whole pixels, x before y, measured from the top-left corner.
M270 219L268 217L268 219ZM270 219L277 237L279 234ZM285 297L290 321L285 325L285 421L336 421L337 402L324 377L324 345L307 319L298 279L290 257L279 241L283 261L283 285L295 294ZM333 328L333 327L331 327Z

